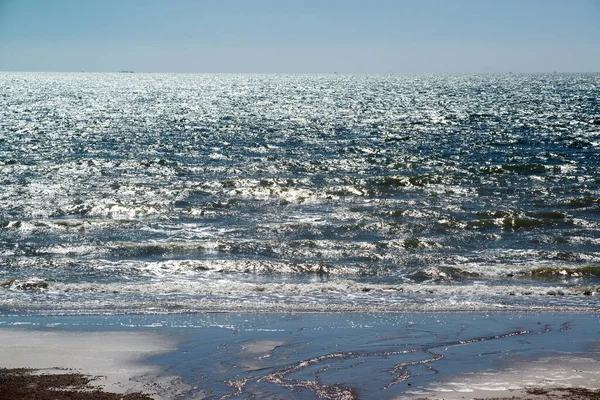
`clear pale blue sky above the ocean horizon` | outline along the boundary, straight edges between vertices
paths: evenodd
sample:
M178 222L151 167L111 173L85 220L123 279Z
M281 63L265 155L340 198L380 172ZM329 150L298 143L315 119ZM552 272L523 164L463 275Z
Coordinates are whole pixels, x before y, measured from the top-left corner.
M0 0L0 71L600 72L600 0Z

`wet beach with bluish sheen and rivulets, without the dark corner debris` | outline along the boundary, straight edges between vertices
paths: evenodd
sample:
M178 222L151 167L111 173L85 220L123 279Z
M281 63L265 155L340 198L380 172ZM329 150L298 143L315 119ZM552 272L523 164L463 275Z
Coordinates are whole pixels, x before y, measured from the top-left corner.
M592 313L5 315L0 367L154 399L593 399L598 332Z

